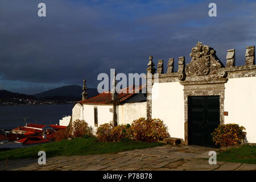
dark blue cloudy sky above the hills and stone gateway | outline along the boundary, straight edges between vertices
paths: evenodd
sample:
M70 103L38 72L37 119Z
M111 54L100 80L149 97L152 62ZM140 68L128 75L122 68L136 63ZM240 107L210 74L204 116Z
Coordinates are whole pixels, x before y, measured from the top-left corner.
M46 17L38 4L46 4ZM209 3L217 5L210 17ZM0 0L0 90L35 94L64 85L97 87L100 73L146 73L153 61L177 60L197 41L226 65L256 44L255 1Z

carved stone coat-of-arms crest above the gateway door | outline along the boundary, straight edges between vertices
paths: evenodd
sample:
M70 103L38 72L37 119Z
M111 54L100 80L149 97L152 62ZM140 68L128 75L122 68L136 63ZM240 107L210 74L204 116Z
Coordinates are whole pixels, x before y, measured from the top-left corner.
M217 75L218 68L223 67L223 64L218 60L215 53L213 48L197 42L196 47L192 48L189 55L192 60L187 64L185 74L187 76Z

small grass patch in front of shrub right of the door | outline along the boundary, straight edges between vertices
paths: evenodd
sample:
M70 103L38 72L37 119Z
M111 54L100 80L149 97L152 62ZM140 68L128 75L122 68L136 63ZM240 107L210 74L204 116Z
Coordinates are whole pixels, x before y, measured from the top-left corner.
M239 148L230 148L218 154L217 160L256 164L256 146L243 145Z

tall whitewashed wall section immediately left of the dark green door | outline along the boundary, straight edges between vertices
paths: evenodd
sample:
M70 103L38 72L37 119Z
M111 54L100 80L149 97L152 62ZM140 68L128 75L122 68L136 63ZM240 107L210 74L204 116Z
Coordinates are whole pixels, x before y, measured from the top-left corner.
M171 137L184 139L184 94L179 82L155 83L152 86L152 118L168 127Z

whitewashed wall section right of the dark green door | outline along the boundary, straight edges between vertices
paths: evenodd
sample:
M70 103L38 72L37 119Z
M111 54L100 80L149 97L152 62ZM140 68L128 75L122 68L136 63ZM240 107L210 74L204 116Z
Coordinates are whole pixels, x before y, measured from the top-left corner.
M247 140L256 143L256 77L230 78L225 84L224 122L244 126Z

